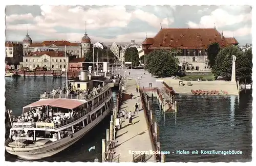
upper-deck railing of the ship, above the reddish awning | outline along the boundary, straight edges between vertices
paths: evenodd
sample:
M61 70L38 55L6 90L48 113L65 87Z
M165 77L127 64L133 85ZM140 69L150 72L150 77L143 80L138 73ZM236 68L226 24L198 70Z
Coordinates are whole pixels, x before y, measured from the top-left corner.
M73 95L73 94L69 94L69 95L65 95L65 94L62 94L62 95L53 95L53 94L42 94L40 95L40 99L58 99L58 98L65 98L65 99L75 99L75 100L88 100L88 99L91 99L93 98L94 96L97 96L100 92L104 91L106 88L108 87L103 87L103 88L100 88L97 90L97 93L95 92L91 92L90 94L88 95L82 95L82 94L78 94L78 95Z

